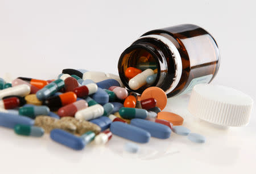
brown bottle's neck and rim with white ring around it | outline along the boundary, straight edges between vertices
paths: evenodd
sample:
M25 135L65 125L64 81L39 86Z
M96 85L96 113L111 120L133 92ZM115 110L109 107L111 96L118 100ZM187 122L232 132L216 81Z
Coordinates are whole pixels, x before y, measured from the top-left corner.
M155 60L158 72L154 83L132 91L142 94L150 86L160 87L166 94L174 90L179 83L182 73L180 54L170 40L160 35L142 36L121 54L118 69L123 84L131 90L128 85L129 79L125 77L125 69L137 66L138 52L140 51L146 51L151 54Z

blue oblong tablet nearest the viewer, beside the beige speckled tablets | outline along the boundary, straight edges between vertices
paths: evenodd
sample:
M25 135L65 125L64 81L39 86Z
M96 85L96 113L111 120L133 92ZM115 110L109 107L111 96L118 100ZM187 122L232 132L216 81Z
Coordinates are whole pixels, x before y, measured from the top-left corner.
M53 141L75 150L82 150L85 147L85 142L82 138L61 129L53 129L50 137Z

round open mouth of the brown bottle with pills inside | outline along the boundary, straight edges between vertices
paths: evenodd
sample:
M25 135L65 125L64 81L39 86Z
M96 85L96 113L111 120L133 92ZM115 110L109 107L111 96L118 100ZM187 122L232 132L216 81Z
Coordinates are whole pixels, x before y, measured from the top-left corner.
M131 45L121 54L118 62L119 76L123 84L129 90L139 94L150 86L156 86L159 80L159 59L148 46ZM136 84L129 82L133 77L142 72L143 77L141 78L144 80L137 80L139 83Z

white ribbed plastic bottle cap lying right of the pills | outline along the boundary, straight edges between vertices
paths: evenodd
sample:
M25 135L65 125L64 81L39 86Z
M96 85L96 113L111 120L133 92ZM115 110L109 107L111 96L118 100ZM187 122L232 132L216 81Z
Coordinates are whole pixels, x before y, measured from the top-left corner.
M250 121L253 99L225 86L197 84L188 111L204 121L222 126L245 126Z

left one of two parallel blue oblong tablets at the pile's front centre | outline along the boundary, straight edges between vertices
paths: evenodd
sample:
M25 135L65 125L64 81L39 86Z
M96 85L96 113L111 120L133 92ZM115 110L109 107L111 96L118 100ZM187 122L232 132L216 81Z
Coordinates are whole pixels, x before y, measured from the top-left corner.
M150 133L148 131L120 121L112 122L110 131L119 137L130 139L138 143L147 143L150 141Z

